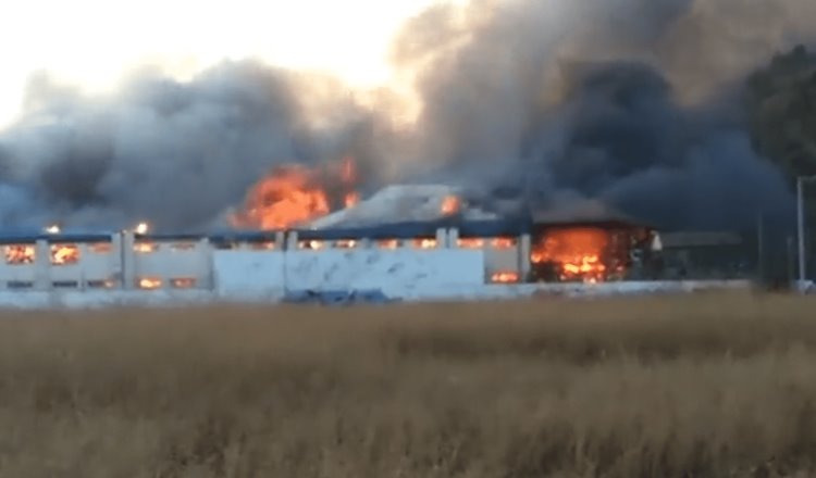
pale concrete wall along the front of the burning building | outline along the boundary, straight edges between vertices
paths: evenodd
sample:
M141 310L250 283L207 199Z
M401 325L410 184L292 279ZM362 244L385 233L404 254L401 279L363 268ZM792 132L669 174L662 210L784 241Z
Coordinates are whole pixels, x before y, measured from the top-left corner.
M448 234L448 236L446 236ZM49 238L50 239L50 238ZM238 242L214 247L207 238L153 240L138 244L132 234L114 235L107 248L71 244L77 261L54 263L49 239L24 244L35 260L0 261L0 307L94 306L102 304L170 304L201 301L274 302L287 292L382 291L401 300L512 299L540 293L597 295L721 288L712 282L623 282L583 285L490 285L494 272L529 271L530 237L512 238L510 247L478 247L456 241L456 230L440 230L436 246L421 249L405 240L396 249L378 241L354 246L326 241L319 250L302 249L296 235L272 242ZM13 244L12 244L13 246ZM17 244L20 246L20 244ZM0 246L5 248L7 246ZM11 247L11 246L9 246ZM5 252L5 250L3 250ZM141 287L140 278L158 278L159 287ZM174 287L174 279L195 284ZM25 284L21 289L21 284ZM742 282L738 287L742 287ZM5 290L3 290L5 289ZM104 289L104 290L96 290ZM28 304L28 305L26 305Z

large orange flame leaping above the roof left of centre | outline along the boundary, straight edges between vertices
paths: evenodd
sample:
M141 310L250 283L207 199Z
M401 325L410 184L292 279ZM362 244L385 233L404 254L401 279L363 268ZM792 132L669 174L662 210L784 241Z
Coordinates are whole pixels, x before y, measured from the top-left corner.
M357 204L356 183L350 158L327 167L279 166L249 190L243 209L230 221L235 227L262 230L304 225Z

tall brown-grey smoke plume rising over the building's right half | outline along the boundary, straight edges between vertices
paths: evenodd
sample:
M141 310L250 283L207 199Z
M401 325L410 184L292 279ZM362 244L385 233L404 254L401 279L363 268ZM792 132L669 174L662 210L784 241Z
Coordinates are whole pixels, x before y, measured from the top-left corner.
M744 78L815 35L811 0L481 1L418 16L394 59L420 72L431 171L730 228L791 204L751 147Z

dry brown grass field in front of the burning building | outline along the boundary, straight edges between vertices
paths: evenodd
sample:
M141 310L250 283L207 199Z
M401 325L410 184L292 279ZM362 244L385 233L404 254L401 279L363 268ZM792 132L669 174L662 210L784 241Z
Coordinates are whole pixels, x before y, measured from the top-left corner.
M0 477L816 474L816 301L9 313Z

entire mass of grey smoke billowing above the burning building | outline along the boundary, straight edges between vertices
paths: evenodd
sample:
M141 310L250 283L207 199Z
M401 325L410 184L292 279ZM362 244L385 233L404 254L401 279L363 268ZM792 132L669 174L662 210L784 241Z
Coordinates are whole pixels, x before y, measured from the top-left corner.
M751 147L740 88L813 34L813 0L437 5L393 48L420 105L408 128L384 102L251 63L101 99L41 79L0 135L0 224L206 227L275 162L350 153L375 185L601 198L660 225L742 227L790 194Z

